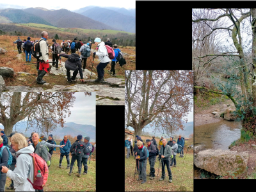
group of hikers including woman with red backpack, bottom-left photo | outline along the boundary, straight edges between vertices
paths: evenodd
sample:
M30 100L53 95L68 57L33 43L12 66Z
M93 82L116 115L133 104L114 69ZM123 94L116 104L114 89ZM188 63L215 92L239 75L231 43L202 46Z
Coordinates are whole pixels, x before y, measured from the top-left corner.
M11 145L8 145L8 138ZM77 135L77 140L71 145L68 136L65 135L60 145L49 134L48 140L44 133L31 133L31 137L27 140L20 133L12 132L10 136L6 136L1 131L0 137L0 191L5 191L6 177L12 180L12 183L6 189L15 191L44 191L43 182L40 178L44 178L44 185L48 177L48 169L51 166L51 156L56 147L60 147L60 162L63 157L67 159L68 175L72 175L74 163L77 161L78 172L77 177L81 177L82 164L84 165L83 175L88 172L88 157L94 151L95 145L89 142L90 137ZM69 153L72 159L70 163ZM18 158L19 157L19 158ZM35 175L34 173L39 173Z

